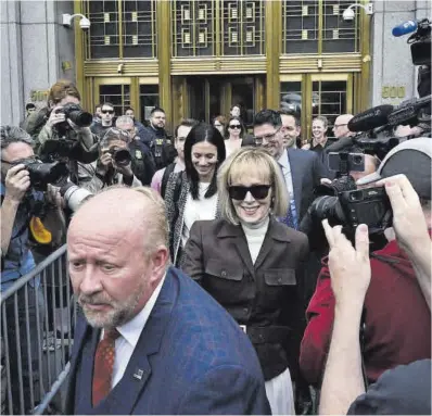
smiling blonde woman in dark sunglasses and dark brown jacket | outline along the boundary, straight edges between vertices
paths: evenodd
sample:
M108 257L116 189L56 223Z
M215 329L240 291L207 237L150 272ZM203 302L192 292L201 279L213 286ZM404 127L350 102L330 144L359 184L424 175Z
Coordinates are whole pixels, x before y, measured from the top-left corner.
M303 262L308 242L276 217L288 209L277 162L242 148L218 174L220 219L194 223L183 270L238 322L258 355L272 414L294 414L304 330Z

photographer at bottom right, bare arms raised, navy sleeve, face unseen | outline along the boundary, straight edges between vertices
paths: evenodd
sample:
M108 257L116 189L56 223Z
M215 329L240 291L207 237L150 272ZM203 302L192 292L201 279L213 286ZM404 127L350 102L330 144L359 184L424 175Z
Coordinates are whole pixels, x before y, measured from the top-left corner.
M411 214L409 222L406 222L405 215L395 214L397 219L403 219L404 224L399 226L414 226L419 231L418 237L429 239L427 228L419 226L423 215L409 181L405 177L394 177L387 184L392 184L386 189L393 207L409 209ZM335 306L320 414L431 414L430 360L387 370L365 392L359 327L371 280L368 228L364 224L357 227L355 249L341 232L340 226L331 228L325 220L323 228L330 244L329 268ZM414 237L411 234L408 241L417 244L419 241ZM424 240L424 243L430 253L430 241Z

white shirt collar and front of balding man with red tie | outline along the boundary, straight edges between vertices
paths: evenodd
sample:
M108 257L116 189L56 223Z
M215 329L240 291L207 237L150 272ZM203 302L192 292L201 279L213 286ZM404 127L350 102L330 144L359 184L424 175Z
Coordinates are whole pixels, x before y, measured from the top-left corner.
M144 329L149 316L153 311L153 306L157 301L165 277L166 275L162 278L156 289L154 289L153 294L150 297L141 312L128 323L116 328L117 331L120 332L120 337L115 340L113 378L111 380L112 389L114 389L115 385L122 380L122 377L125 374L126 367L132 356L135 348L137 346L141 332ZM103 331L101 333L101 339L102 338Z

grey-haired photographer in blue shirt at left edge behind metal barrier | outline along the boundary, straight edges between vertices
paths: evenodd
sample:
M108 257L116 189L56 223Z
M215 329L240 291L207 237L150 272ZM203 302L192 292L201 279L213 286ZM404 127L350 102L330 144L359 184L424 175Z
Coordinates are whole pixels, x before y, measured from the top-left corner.
M1 133L1 291L10 288L17 279L35 267L35 261L28 248L31 223L42 220L51 235L52 242L60 242L64 232L64 218L58 188L48 185L46 194L34 189L31 175L26 164L36 162L33 141L26 131L18 127L2 126ZM20 333L15 333L15 324L8 326L9 358L11 360L12 394L14 407L20 403L17 371L18 352L16 336L21 340L21 351L31 353L31 366L38 368L38 328L36 311L43 316L43 292L39 278L30 281L27 288L17 291L18 314L14 314L14 297L5 301L9 317L18 320ZM28 314L28 315L27 315ZM29 327L27 338L26 323ZM42 319L40 318L40 322ZM30 341L31 340L31 341ZM38 374L31 376L27 353L20 357L23 364L23 387L26 409L29 411L30 382L38 381ZM33 380L33 381L31 381ZM17 413L21 413L16 408Z

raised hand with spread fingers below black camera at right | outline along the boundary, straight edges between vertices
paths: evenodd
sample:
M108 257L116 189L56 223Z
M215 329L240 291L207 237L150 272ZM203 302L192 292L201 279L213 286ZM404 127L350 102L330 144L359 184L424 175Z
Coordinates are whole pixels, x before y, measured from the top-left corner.
M342 226L332 228L327 219L322 226L330 245L329 269L336 305L363 305L371 277L368 227L357 227L354 249Z

